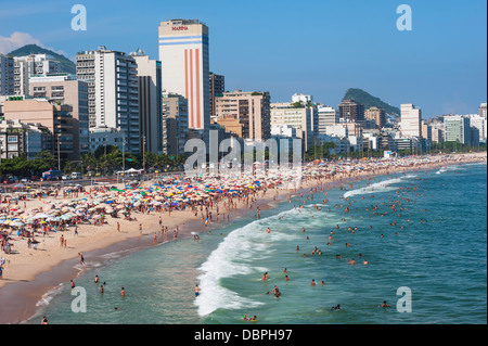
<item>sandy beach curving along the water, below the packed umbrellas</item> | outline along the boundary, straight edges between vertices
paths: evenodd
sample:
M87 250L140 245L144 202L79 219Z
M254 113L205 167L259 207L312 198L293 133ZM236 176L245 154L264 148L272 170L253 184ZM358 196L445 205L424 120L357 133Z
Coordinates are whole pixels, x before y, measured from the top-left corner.
M187 208L170 213L167 210L150 210L149 213L133 210L131 217L137 220L107 216L106 223L101 226L79 223L78 234L75 234L75 227L70 226L62 232L37 235L36 240L39 242L37 248L29 246L26 238L12 233L12 253L0 252L0 258L5 260L0 279L0 323L20 323L33 316L36 303L46 292L59 285L60 282L68 282L74 275L79 274L80 271L74 269L75 265L80 262L79 254L84 255L85 260L89 260L113 251L160 245L165 242L193 236L195 233L208 232L208 230L223 227L240 217L258 217L259 210L271 208L275 203L285 201L297 193L310 193L318 188L332 189L358 179L371 179L395 172L435 169L467 162L486 162L486 152L454 154L449 157L444 156L442 159L425 162L419 157L412 161L411 165L406 165L404 162L399 165L398 161L393 159L382 165L375 164L371 166L371 169L368 168L367 163L360 163L355 165L360 169L348 167L347 170L335 171L333 175L323 170L324 166L312 165L304 168L299 185L282 184L266 190L257 189L246 197L233 198L232 206L226 198L211 204L210 210L214 217L208 220L207 226L203 221L201 213L196 213L195 216L195 210ZM150 187L153 183L155 182L144 182L143 187ZM117 184L117 189L124 189L123 184ZM18 206L25 210L40 207L47 209L53 203L69 200L73 198L61 196L30 198L25 201L25 204L24 201L21 201ZM217 208L220 213L217 212ZM216 219L217 213L219 213L219 220ZM167 233L160 230L159 218L162 218L162 226L167 227ZM177 236L175 236L176 230L178 230ZM61 244L61 236L65 240L63 244Z

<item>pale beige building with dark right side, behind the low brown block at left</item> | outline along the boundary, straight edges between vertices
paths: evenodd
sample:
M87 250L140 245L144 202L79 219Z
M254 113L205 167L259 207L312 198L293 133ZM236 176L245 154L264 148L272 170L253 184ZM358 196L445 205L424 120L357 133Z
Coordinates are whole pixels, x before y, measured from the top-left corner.
M79 143L74 148L75 156L90 151L88 127L88 84L67 75L36 76L29 81L29 95L36 99L48 99L50 103L68 104L73 107L72 116L78 120L79 131L74 134L74 141Z

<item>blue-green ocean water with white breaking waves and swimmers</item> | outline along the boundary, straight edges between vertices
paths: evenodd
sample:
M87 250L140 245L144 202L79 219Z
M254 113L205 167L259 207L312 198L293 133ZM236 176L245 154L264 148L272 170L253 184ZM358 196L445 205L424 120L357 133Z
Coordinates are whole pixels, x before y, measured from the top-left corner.
M61 283L27 323L249 323L242 315L256 324L486 323L486 164L376 177L295 197L198 241L87 258L76 278L86 312L74 312L79 296ZM268 294L274 286L279 298Z

